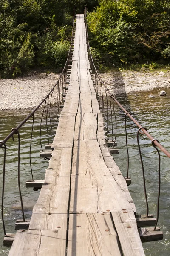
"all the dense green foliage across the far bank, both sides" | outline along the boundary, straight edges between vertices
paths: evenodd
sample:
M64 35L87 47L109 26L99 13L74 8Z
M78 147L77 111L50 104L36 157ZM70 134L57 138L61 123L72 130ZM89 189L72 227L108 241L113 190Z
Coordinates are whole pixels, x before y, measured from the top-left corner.
M92 52L120 66L169 61L170 0L0 0L0 77L63 67L73 6L88 6Z

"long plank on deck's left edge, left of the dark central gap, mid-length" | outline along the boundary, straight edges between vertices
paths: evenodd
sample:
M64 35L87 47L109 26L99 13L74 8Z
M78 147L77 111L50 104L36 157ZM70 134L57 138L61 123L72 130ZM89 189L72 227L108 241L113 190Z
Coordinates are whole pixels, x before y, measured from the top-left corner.
M33 213L67 213L72 148L55 148Z

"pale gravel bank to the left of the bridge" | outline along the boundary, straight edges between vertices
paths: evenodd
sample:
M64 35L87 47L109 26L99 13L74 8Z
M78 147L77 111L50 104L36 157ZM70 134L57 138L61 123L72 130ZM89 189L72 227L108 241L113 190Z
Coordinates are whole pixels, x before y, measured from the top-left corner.
M58 78L59 74L36 73L16 79L0 79L0 110L35 108Z

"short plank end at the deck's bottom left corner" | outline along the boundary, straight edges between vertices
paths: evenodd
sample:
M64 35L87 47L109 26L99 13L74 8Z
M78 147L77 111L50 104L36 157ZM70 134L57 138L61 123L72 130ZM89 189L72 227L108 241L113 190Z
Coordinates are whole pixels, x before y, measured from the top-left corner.
M18 230L9 256L65 256L65 230Z

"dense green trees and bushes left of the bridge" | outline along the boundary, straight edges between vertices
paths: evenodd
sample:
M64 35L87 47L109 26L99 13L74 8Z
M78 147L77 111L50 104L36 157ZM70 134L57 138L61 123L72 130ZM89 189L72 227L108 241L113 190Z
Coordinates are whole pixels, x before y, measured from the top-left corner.
M63 67L77 11L96 0L0 0L0 77L30 67Z

